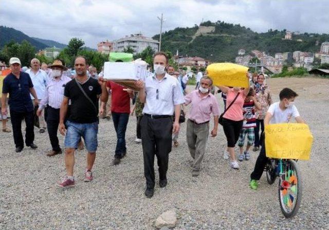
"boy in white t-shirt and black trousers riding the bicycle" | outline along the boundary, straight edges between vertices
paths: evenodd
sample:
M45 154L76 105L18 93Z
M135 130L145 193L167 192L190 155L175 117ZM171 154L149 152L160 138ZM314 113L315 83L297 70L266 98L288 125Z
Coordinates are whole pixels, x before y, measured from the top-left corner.
M305 123L294 105L297 96L298 94L289 88L282 89L279 94L280 102L270 105L264 119L264 125L289 123L293 118L295 118L298 123ZM251 172L250 175L250 187L252 189L258 188L257 181L262 177L267 159L265 152L265 138L263 138L262 149L255 163L253 172Z

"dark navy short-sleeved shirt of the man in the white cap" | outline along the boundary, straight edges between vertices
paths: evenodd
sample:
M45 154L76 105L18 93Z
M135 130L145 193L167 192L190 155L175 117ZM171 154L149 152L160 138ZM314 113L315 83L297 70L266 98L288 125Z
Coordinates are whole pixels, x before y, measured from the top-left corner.
M28 73L21 71L19 79L13 73L9 73L6 76L2 92L9 93L10 110L16 112L33 110L34 107L30 97L30 88L32 87L32 80Z

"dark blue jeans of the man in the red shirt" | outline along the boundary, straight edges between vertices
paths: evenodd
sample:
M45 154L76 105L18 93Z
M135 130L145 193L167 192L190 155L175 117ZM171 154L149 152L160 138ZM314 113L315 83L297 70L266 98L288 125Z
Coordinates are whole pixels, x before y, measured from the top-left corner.
M117 133L117 146L114 156L121 158L126 152L125 130L129 120L129 113L112 112L112 119Z

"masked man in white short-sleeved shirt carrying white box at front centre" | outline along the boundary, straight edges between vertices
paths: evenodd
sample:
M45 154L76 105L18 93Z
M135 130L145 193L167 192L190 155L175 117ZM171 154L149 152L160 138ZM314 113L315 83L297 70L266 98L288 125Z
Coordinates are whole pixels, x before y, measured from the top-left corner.
M174 76L166 73L168 57L164 52L155 53L155 74L136 82L139 100L145 103L141 119L141 136L144 158L144 176L147 188L145 196L151 198L154 194L155 174L154 156L159 166L159 186L167 185L167 170L169 153L172 148L172 132L179 131L179 115L184 97L180 83ZM175 111L174 122L172 120Z

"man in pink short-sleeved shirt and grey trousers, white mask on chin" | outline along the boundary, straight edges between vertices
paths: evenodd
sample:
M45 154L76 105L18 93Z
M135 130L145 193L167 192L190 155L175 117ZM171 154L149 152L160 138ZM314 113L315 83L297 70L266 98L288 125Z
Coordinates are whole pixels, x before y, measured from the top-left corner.
M210 93L212 80L204 76L200 80L199 88L185 96L185 105L191 104L187 121L186 137L190 154L194 159L192 176L197 177L205 155L209 135L209 121L211 113L214 116L214 128L211 137L217 136L220 106L214 95Z

